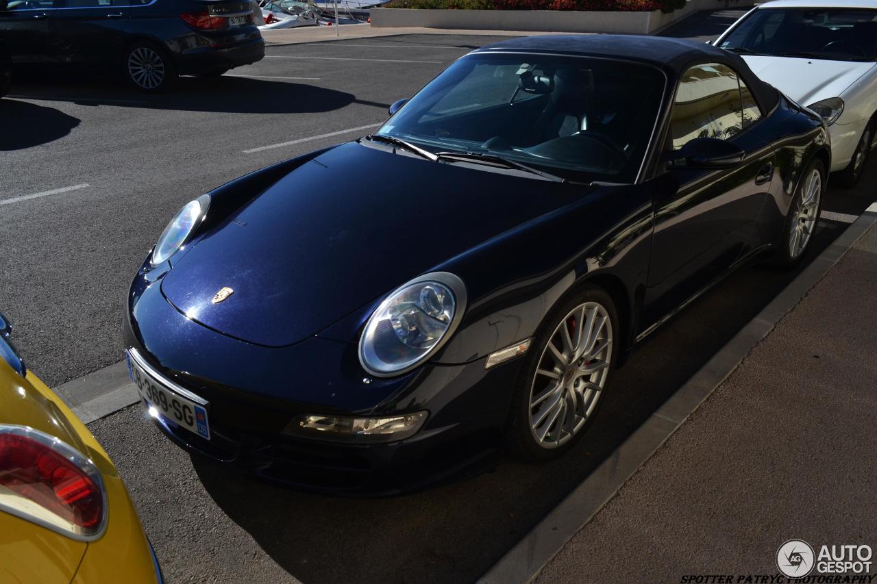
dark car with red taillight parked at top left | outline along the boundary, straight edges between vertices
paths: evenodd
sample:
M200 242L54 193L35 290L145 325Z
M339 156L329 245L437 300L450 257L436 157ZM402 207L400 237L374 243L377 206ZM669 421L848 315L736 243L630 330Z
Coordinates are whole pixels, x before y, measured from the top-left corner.
M0 0L0 39L16 66L120 71L146 92L265 55L246 0Z

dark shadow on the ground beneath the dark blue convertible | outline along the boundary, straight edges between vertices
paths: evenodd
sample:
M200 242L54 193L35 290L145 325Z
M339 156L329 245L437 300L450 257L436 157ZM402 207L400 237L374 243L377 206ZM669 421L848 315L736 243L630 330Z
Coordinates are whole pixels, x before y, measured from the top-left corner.
M849 200L861 212L873 201L875 181L872 167L859 189L830 189L826 208ZM845 228L823 222L809 257ZM217 505L306 584L349 582L351 574L360 582L474 581L598 465L611 461L617 447L805 266L777 271L753 263L692 303L617 371L585 440L547 464L524 464L500 453L465 480L411 495L346 499L276 487L202 459L192 462Z

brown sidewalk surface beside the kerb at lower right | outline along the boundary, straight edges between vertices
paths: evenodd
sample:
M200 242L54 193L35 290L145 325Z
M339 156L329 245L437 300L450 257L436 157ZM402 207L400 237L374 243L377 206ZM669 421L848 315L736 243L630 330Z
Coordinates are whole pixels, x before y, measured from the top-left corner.
M875 411L877 225L537 581L736 582L792 538L877 547Z

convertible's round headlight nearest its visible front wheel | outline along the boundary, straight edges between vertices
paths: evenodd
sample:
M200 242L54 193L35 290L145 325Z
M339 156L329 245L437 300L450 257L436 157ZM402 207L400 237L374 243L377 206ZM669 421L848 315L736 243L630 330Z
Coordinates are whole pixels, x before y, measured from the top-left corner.
M447 272L396 288L374 310L360 338L360 363L377 377L403 374L444 345L466 310L466 286Z

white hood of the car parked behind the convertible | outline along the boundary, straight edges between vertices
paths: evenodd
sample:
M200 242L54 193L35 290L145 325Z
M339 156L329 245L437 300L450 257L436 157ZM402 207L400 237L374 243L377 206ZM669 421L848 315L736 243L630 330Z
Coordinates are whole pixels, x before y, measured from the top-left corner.
M743 55L743 59L752 73L805 106L841 96L874 67L874 63L793 57Z

